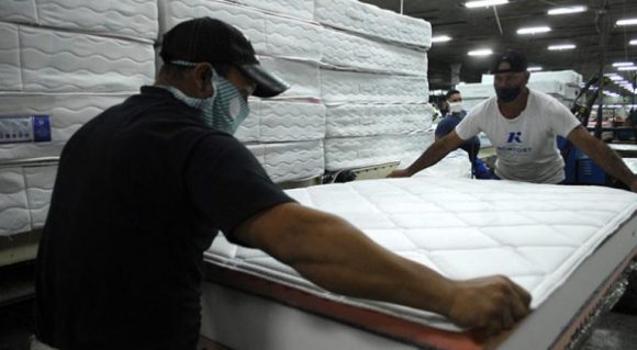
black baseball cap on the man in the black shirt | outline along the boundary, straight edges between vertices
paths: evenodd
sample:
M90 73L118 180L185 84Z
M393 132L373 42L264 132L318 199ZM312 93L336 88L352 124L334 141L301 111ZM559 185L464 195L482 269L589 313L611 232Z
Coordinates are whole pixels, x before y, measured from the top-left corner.
M211 18L177 24L164 34L159 56L166 64L185 60L235 66L257 84L254 95L259 98L276 97L290 88L264 69L253 45L239 30Z

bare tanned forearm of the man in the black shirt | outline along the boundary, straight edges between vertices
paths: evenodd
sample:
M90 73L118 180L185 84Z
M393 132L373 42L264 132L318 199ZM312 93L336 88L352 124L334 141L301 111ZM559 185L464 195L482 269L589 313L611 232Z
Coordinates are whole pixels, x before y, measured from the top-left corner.
M448 314L451 281L391 253L342 218L309 217L306 228L289 236L293 241L281 242L295 249L278 255L301 275L335 293Z

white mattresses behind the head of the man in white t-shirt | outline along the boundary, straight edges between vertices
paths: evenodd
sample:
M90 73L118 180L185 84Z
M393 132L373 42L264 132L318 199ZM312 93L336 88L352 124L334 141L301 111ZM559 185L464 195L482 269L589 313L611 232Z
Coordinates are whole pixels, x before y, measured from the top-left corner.
M572 70L532 72L528 88L552 95L570 108L580 92L582 76ZM483 75L480 83L465 83L456 87L462 93L467 109L495 95L493 76Z

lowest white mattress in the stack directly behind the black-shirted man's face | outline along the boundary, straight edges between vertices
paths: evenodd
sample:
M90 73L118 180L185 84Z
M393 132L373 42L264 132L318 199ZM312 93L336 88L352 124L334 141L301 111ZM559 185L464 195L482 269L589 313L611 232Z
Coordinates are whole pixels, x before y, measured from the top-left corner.
M275 182L305 180L325 172L323 140L246 146Z

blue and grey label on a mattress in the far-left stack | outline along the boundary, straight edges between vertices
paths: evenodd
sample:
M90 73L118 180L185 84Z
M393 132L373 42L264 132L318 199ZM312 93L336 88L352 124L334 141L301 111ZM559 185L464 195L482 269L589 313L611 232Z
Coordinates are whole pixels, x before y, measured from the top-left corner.
M0 115L0 144L51 142L48 115Z

